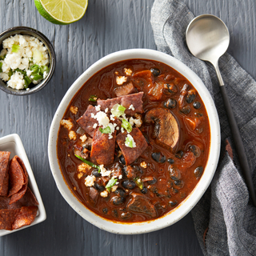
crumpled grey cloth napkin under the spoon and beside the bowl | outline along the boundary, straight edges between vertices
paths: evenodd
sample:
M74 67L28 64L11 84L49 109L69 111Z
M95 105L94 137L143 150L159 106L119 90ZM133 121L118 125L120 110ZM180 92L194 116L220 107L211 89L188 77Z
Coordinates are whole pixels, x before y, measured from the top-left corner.
M194 58L186 46L186 27L192 18L187 6L176 0L155 0L151 10L158 50L174 56L198 74L214 98L221 123L221 158L210 187L192 210L194 227L205 255L256 255L256 208L250 202L235 152L233 157L232 151L226 150L226 138L231 145L232 138L218 78L213 66ZM256 82L230 54L220 58L219 67L256 187Z

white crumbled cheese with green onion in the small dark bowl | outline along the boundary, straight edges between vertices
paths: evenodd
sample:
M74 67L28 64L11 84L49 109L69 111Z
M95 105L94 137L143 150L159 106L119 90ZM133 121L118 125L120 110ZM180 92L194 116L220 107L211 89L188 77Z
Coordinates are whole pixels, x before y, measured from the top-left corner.
M2 42L0 78L15 90L29 90L41 82L49 65L48 50L38 38L16 34Z

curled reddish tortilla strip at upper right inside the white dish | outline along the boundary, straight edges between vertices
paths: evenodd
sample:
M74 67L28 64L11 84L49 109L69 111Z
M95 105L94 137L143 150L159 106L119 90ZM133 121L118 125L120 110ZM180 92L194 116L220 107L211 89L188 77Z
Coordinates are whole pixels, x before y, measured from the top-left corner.
M22 166L19 164L18 159L15 156L10 160L8 197L22 189L22 186L26 183L25 179L26 178L24 171L22 170Z

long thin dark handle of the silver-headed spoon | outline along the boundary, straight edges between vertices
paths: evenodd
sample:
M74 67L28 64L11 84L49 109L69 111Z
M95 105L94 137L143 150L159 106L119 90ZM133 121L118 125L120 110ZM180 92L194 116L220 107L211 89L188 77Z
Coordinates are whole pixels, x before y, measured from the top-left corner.
M226 109L227 118L230 123L230 130L231 130L231 134L232 134L232 137L234 140L234 147L238 154L238 160L240 162L242 174L245 178L247 188L250 191L250 197L252 198L254 206L256 206L256 196L255 196L255 191L254 191L254 184L253 184L251 174L250 174L250 167L249 167L249 164L248 164L248 161L246 158L246 151L242 144L242 138L241 138L240 132L238 130L238 124L235 121L234 112L230 105L230 100L227 96L226 87L224 86L224 84L222 86L220 86L220 90L222 93L222 98L223 98L224 106Z

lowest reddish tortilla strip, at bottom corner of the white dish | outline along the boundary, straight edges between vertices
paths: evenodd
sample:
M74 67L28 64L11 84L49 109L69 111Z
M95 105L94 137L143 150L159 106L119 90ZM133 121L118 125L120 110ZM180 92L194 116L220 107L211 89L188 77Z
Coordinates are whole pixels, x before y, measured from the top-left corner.
M30 225L34 222L37 212L38 206L23 206L14 220L12 230L17 230L22 226Z

